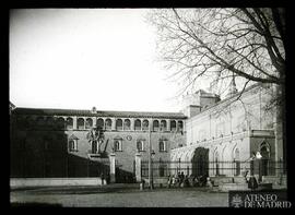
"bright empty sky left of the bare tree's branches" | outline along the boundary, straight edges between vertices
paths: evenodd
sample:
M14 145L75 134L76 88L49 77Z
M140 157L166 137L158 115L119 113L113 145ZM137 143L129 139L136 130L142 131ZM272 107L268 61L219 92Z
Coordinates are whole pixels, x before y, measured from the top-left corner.
M145 12L12 10L10 101L30 108L179 111L179 86L157 62Z

